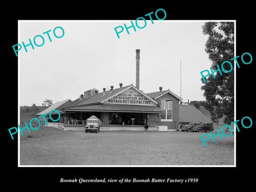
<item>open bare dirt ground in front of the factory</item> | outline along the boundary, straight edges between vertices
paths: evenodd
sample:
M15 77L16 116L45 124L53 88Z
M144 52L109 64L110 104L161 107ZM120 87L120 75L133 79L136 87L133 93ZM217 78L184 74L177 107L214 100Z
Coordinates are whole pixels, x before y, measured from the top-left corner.
M234 134L63 131L40 127L20 137L20 165L234 165Z

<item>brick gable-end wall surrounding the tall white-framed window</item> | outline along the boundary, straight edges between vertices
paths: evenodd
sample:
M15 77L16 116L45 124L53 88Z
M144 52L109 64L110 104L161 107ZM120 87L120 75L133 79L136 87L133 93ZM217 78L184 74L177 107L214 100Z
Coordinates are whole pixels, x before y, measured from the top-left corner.
M165 125L168 129L178 129L179 127L179 100L170 93L166 93L161 98L156 99L156 101L161 105L161 100L172 100L172 122L162 122L161 115L157 115L156 124L157 125Z

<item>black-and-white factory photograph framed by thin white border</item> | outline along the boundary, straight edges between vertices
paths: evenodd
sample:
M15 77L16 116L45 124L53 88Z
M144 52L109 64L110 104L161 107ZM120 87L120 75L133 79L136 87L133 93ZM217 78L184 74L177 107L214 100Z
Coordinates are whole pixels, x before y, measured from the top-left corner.
M130 34L118 38L115 27ZM235 21L20 21L27 49L18 53L20 127L33 118L30 127L40 126L19 132L20 166L234 166L234 124L221 129L234 121L234 70L224 79L217 71L207 83L200 74L217 59L234 58L234 27ZM216 84L221 89L214 92Z

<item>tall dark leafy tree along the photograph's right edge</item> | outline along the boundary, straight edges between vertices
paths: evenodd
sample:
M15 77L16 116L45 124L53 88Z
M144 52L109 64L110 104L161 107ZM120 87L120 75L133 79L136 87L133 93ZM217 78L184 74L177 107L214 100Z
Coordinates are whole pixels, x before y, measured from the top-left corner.
M234 22L205 22L202 26L203 34L209 35L205 43L205 52L209 54L212 61L212 69L221 68L224 61L230 61L234 65ZM229 65L223 65L226 71ZM221 117L224 123L234 122L234 69L229 73L214 73L215 78L210 75L201 90L204 91L206 101L203 106L210 111L211 119L218 123Z

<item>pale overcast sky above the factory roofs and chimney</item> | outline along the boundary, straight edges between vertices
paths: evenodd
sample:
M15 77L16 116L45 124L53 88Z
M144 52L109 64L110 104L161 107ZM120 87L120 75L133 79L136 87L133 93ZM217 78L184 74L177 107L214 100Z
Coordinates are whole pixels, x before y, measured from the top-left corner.
M145 28L129 28L130 34L124 29L118 38L114 28L124 23L129 27L131 20L20 20L19 44L29 44L29 38L33 42L36 35L45 41L42 46L33 43L34 50L28 45L27 52L24 47L18 51L20 106L42 106L45 99L75 100L84 91L102 92L111 85L116 89L119 83L135 86L136 49L140 49L141 91L156 92L162 86L183 102L205 100L200 71L209 69L212 62L205 53L204 22L154 20L153 24L147 20ZM53 34L58 26L65 31L61 38ZM49 30L52 42L43 34ZM55 33L62 35L60 28ZM42 44L42 39L36 37L36 43Z

